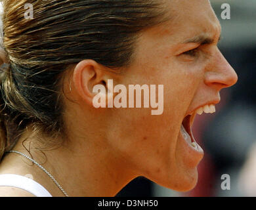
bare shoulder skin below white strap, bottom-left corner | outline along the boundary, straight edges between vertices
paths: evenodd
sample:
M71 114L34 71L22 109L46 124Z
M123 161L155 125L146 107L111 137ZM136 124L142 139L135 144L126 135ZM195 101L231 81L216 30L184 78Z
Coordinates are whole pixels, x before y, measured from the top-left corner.
M0 186L0 197L35 197L30 192L11 186Z

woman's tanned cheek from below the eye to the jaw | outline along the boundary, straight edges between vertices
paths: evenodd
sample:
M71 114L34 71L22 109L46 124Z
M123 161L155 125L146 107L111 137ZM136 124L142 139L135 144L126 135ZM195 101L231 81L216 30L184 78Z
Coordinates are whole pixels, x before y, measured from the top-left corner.
M152 116L152 108L114 109L108 125L114 152L137 169L143 166L142 171L158 171L160 165L167 171L169 161L175 158L182 119L198 85L197 68L172 65L142 68L154 73L133 74L123 82L125 86L164 85L163 114Z

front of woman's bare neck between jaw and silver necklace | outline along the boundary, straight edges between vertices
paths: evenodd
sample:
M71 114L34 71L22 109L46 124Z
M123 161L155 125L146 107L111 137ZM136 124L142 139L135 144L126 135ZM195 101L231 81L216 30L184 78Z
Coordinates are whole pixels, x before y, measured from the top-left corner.
M70 196L115 196L135 178L131 171L125 169L124 161L96 147L59 148L58 152L53 150L48 156L51 157L49 161L53 159L51 162L58 163L52 164L56 165L60 180L63 180Z

